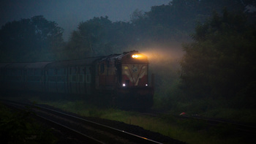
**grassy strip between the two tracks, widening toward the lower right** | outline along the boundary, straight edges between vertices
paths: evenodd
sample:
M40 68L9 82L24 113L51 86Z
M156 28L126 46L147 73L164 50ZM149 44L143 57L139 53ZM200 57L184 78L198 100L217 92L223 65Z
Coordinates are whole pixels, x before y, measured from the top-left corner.
M31 102L40 104L52 105L62 110L66 110L72 113L78 113L79 115L105 118L113 121L122 121L126 124L132 124L141 126L144 129L148 129L152 132L159 132L167 137L184 141L186 143L196 144L227 144L227 143L244 143L247 137L239 137L233 134L233 129L228 126L219 126L219 128L208 127L203 121L188 121L177 119L171 115L162 115L160 118L149 117L144 115L138 115L135 112L129 112L124 110L118 110L116 107L108 107L105 109L98 108L94 105L89 105L83 101L69 102L69 101L42 101L37 98L31 99ZM185 107L192 107L190 104L181 104L179 110L188 110ZM205 108L195 107L190 113L194 113L196 110ZM202 110L203 111L203 110ZM232 109L212 109L208 113L203 113L204 116L216 117L216 118L239 118L239 120L249 121L250 113L243 113L244 110L232 110ZM178 113L172 112L172 113ZM241 114L245 117L241 118ZM254 116L252 116L254 117ZM255 123L254 123L255 124ZM250 141L248 143L251 143Z

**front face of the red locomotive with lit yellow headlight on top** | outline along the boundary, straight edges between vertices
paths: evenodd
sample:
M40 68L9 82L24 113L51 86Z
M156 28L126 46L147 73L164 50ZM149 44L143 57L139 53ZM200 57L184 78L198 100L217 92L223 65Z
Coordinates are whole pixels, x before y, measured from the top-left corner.
M138 51L116 57L116 101L127 109L145 110L153 105L154 88L148 83L148 58Z

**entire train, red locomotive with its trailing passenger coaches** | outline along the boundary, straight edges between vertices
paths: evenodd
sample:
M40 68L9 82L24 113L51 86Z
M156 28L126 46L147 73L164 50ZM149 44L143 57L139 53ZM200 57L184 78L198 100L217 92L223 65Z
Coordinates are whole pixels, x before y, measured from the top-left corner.
M154 75L149 77L148 64L147 56L137 50L78 60L0 63L0 91L146 110L154 96Z

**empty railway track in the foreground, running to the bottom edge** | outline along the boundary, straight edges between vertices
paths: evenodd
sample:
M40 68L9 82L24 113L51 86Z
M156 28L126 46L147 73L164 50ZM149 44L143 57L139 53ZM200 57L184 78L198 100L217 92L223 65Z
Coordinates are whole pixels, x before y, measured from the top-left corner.
M51 110L47 107L6 100L2 102L9 107L15 107L16 109L30 107L32 113L35 113L34 116L41 121L50 124L54 129L59 129L61 132L73 135L82 143L159 143L146 137L140 137L137 134L98 124L94 121L88 121L75 115Z

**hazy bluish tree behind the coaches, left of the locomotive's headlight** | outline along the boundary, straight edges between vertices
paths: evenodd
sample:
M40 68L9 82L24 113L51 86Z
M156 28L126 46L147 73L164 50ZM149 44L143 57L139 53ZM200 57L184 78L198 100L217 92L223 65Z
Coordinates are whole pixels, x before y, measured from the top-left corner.
M78 30L73 31L67 45L69 58L84 58L88 56L102 55L105 48L109 48L110 26L112 22L105 18L93 18L86 22L79 23Z

